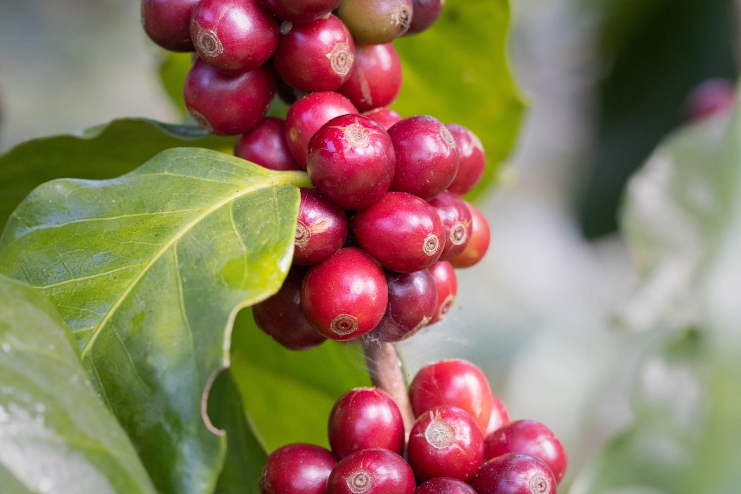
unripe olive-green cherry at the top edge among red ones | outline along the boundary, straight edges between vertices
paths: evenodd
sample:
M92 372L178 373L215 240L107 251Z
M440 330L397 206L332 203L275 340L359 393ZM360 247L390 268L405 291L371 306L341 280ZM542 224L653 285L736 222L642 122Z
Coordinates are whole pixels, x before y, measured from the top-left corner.
M337 15L359 43L391 43L409 29L412 0L342 0Z

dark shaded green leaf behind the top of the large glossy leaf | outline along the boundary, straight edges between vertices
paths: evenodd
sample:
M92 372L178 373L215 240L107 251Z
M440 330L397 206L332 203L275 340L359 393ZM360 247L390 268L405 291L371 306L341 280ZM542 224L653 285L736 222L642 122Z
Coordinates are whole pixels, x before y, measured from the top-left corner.
M147 119L114 120L75 135L27 141L0 156L0 229L33 187L54 178L113 178L170 147L230 151L233 138Z

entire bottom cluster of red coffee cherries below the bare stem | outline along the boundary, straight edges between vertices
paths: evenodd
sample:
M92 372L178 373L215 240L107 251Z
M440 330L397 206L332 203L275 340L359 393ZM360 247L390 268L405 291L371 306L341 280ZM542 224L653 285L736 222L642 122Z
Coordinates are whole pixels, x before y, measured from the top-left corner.
M416 421L405 441L399 408L373 387L350 390L329 417L330 450L294 443L270 453L262 494L554 494L566 454L533 420L510 421L485 375L449 359L409 388Z

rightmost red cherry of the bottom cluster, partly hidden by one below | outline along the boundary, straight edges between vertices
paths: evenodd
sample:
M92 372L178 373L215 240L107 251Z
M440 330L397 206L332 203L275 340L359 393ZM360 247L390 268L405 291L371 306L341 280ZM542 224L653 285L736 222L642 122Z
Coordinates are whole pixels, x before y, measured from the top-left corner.
M525 453L545 461L556 483L566 473L566 451L551 429L539 421L516 420L499 427L485 441L485 458Z

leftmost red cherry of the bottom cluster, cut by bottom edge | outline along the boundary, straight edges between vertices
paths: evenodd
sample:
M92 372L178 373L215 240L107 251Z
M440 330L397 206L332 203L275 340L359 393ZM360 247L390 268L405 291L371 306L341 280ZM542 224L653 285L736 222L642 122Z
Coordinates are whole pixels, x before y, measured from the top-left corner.
M262 467L261 494L325 494L337 459L314 444L294 443L268 455Z

